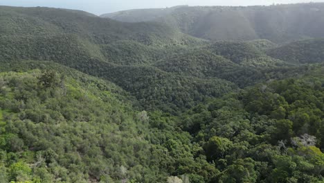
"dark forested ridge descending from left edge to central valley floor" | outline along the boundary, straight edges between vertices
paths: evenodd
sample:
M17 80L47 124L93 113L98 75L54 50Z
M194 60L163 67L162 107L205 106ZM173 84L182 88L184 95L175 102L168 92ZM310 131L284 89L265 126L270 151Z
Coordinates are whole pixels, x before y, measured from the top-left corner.
M28 40L31 41L28 42ZM154 67L114 64L109 62L110 60L102 60L102 56L91 51L91 46L96 50L96 44L89 42L84 44L79 41L74 35L20 37L18 41L8 39L2 42L7 46L0 46L3 51L0 60L1 63L5 60L9 63L16 60L49 60L64 64L92 76L115 82L136 96L147 110L159 108L172 113L179 112L207 97L220 96L235 89L230 82L217 78L213 80L186 78ZM129 58L132 58L131 56L129 55ZM150 55L147 56L150 57ZM111 58L118 57L111 55ZM114 61L118 62L118 60ZM119 63L123 64L123 62Z

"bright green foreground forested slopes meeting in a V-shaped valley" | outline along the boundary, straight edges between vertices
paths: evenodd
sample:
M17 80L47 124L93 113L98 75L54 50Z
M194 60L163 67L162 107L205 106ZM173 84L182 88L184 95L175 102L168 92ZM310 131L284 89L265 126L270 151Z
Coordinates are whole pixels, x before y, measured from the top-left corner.
M179 116L135 110L120 87L60 64L7 62L0 76L1 180L323 179L323 65Z

